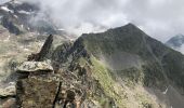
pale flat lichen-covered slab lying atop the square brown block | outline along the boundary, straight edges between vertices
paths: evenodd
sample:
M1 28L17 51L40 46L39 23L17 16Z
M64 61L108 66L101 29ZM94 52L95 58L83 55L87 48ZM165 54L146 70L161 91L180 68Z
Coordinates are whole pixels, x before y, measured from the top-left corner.
M53 68L52 66L47 62L24 62L21 64L19 67L17 67L17 72L19 73L26 73L26 72L52 72Z

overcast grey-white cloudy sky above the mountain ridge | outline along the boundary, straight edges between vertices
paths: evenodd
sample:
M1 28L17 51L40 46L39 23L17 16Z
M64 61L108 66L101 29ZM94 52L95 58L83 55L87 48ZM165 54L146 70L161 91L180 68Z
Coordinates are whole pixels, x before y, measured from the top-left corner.
M1 2L4 0L0 0ZM56 24L77 33L133 23L166 41L184 33L184 0L25 0L40 1Z

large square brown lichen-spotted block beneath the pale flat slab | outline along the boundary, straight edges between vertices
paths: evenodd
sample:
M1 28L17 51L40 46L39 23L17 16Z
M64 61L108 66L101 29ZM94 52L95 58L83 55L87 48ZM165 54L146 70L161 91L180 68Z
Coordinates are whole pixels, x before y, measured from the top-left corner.
M52 108L57 95L60 80L52 76L29 77L17 81L17 107Z

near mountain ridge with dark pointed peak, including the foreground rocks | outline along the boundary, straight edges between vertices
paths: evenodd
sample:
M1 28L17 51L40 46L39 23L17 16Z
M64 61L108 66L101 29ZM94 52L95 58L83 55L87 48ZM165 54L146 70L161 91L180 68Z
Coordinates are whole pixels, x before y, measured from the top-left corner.
M134 25L84 33L54 49L53 36L45 40L29 62L17 65L17 92L2 94L17 100L15 106L184 107L184 56Z

